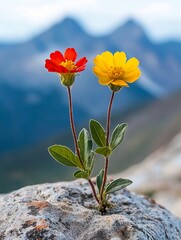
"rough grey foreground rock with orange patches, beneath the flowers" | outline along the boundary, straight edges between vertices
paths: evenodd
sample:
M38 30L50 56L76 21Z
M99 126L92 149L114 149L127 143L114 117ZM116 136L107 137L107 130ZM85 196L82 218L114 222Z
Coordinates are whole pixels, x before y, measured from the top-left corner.
M86 181L28 186L0 197L1 240L180 240L181 219L124 189L100 215Z

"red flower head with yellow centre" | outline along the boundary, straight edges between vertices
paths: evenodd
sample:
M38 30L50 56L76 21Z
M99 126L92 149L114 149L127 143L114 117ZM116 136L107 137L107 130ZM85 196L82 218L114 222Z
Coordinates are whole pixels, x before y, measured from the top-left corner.
M77 53L74 48L67 48L64 55L59 51L55 51L50 54L50 59L45 60L45 68L49 72L56 72L61 75L67 73L75 75L75 73L85 70L87 63L86 57L81 58L75 63L76 58Z

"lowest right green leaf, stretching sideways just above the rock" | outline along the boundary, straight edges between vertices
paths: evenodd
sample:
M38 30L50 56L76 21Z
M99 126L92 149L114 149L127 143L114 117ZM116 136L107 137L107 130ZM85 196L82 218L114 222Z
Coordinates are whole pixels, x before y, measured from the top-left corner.
M106 186L105 193L109 194L109 193L116 192L122 188L127 187L131 183L132 181L129 179L118 178Z

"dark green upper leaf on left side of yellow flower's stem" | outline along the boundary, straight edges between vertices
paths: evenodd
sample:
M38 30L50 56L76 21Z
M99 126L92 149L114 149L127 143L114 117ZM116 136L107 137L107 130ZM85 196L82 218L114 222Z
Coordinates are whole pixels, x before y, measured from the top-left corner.
M106 132L98 121L90 120L90 131L92 138L99 147L106 145Z

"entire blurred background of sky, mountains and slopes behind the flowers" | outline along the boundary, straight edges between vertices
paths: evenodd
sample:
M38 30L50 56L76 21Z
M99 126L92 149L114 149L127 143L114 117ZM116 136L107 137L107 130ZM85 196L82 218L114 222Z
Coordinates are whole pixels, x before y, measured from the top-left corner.
M67 47L89 60L72 89L77 132L90 118L105 125L110 90L91 71L96 54L140 60L140 80L116 94L112 127L129 127L110 173L181 216L180 0L1 0L0 193L72 178L47 152L73 149L66 89L44 68L50 52ZM95 174L102 165L97 159Z

